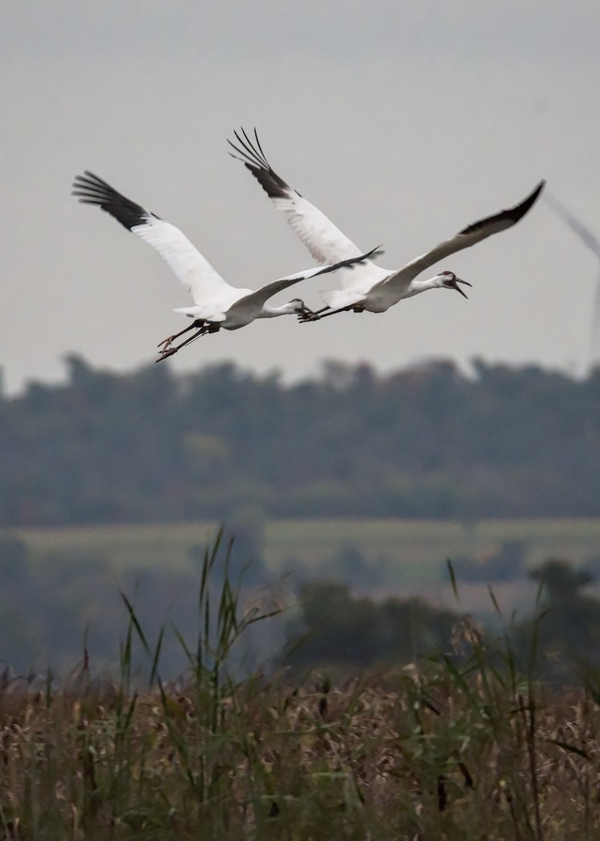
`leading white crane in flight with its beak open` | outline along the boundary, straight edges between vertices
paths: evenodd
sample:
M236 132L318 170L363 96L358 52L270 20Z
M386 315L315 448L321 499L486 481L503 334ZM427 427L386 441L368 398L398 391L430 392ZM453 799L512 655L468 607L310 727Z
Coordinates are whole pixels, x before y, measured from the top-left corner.
M250 170L272 199L276 209L286 215L288 225L308 247L313 257L319 262L326 262L341 260L355 253L354 243L325 214L303 198L297 190L290 187L271 168L262 151L256 130L255 142L250 140L244 129L241 130L241 134L243 137L237 131L234 132L239 145L235 145L231 140L227 141L236 152L235 155L231 152L229 154L242 161ZM363 312L365 309L374 313L385 312L403 298L434 288L455 289L466 298L466 294L458 284L465 283L471 286L471 283L457 278L454 272L439 272L429 280L415 278L444 257L449 257L450 254L461 251L463 248L474 246L476 242L485 240L487 236L515 225L532 207L544 184L544 181L539 182L533 193L515 207L468 225L449 240L440 242L439 245L411 260L399 270L382 268L371 261L364 262L356 268L352 276L342 275L341 289L321 293L326 304L323 309L310 314L303 312L300 314L300 320L318 320L348 309L354 312Z

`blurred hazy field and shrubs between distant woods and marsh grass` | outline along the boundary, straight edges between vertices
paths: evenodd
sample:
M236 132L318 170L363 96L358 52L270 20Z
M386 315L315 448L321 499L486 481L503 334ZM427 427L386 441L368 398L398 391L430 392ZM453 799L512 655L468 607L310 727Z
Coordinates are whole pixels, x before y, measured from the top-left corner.
M193 636L198 569L218 528L217 523L198 521L4 532L0 573L5 607L0 632L5 663L36 671L50 664L64 674L81 660L87 634L97 667L113 670L125 621L119 592L134 601L151 633L165 624ZM380 620L386 625L389 616L403 611L402 633L417 648L424 630L420 621L415 624L415 616L423 611L427 616L428 611L433 611L432 616L439 611L446 631L452 623L449 611L454 616L455 611L469 612L490 628L498 627L498 610L507 620L514 616L515 621L527 622L540 580L547 584L547 576L543 573L540 579L539 570L548 569L551 558L562 563L558 578L550 575L552 598L560 600L564 591L567 601L575 599L569 601L567 624L573 616L583 615L586 600L600 596L595 583L600 572L597 519L269 521L247 509L227 524L223 545L232 538L231 570L234 579L242 577L243 600L274 598L286 606L280 620L262 629L260 637L246 635L249 645L242 659L253 666L282 655L299 617L306 627L321 627L334 602L340 616L355 615L358 628ZM458 582L458 597L448 561ZM214 574L218 584L223 568ZM587 629L577 630L575 648L592 645L595 605L590 610L592 620ZM436 619L432 627L438 625ZM330 639L333 633L328 632ZM361 634L364 637L365 632ZM341 658L352 670L357 659L387 662L410 656L413 650L401 654L396 648L395 655L384 654L387 642L372 641L365 648L361 640L350 643L350 637L340 628L339 648L310 654L308 661L313 657L318 664L326 657L334 663ZM435 644L443 645L443 638L436 637ZM349 645L354 651L350 661ZM185 669L172 634L167 636L166 652L172 674Z

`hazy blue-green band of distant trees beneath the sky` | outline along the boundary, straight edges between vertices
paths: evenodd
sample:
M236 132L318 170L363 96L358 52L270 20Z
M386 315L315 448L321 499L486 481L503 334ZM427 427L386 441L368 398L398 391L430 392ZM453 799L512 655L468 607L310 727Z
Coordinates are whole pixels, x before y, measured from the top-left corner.
M600 369L67 365L0 397L0 525L600 514Z

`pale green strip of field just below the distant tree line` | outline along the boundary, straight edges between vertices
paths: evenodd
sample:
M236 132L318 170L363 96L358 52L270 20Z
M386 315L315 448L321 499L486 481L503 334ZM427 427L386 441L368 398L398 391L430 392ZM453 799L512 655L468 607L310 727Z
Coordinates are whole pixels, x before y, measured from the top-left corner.
M214 536L208 521L153 525L71 526L11 530L33 558L48 553L101 556L116 571L189 569L189 549ZM527 567L549 556L590 562L600 553L600 519L482 520L473 523L401 520L276 520L261 529L261 556L273 574L301 566L318 572L326 558L354 547L367 563L386 562L390 586L432 584L446 558L470 556L485 564L504 542L524 546Z

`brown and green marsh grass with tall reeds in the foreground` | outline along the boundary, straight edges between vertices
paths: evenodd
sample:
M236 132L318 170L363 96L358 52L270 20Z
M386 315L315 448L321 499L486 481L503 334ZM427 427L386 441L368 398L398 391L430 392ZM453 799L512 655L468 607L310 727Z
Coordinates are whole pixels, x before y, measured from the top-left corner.
M447 652L396 672L240 678L236 643L278 609L244 607L227 558L219 539L203 558L185 679L161 679L165 630L149 640L124 595L119 680L85 656L59 690L4 687L0 837L600 837L599 678L545 689L535 638L520 669L509 633L487 643L469 617Z

